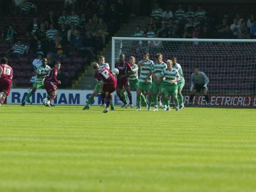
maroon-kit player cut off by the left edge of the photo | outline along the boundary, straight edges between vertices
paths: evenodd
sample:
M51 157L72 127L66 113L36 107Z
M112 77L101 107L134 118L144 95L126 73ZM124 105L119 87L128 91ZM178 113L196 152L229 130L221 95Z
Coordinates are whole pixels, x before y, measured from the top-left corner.
M12 86L13 70L8 65L8 59L2 58L0 63L0 106L9 95Z

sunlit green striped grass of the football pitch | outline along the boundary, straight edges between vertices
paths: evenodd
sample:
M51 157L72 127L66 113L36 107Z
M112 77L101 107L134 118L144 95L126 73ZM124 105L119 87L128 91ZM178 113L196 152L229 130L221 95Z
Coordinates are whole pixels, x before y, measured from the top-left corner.
M256 110L0 107L0 191L255 191Z

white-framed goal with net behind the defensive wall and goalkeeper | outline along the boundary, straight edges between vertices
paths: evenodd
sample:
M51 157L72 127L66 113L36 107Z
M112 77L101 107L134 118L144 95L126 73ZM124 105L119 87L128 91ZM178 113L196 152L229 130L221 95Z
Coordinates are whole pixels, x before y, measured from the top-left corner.
M199 67L209 77L211 106L255 108L256 106L256 40L183 39L183 38L112 38L112 68L120 54L150 60L161 52L163 59L175 56L182 67L185 86L184 104L188 104L193 67ZM195 106L205 104L202 93L194 99Z

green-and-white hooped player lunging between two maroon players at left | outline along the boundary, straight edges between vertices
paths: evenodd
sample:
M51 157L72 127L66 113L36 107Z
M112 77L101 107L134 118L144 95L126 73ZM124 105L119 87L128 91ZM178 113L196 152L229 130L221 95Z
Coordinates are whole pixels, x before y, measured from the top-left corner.
M38 67L36 70L36 77L35 77L35 82L33 83L33 88L31 92L28 93L25 100L22 100L21 106L25 106L26 102L36 92L37 89L44 88L45 76L47 76L47 74L51 70L51 67L49 67L46 63L47 63L47 60L45 58L42 59L42 65Z

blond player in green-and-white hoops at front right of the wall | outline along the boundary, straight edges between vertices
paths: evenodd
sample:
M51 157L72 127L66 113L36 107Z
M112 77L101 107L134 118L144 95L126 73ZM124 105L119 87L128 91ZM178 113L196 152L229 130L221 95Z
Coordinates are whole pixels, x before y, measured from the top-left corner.
M179 101L177 98L178 85L180 81L180 75L177 69L173 68L172 60L166 61L167 68L164 68L161 72L160 79L164 79L164 100L167 108L164 111L170 111L170 96L175 104L176 111L179 111Z

